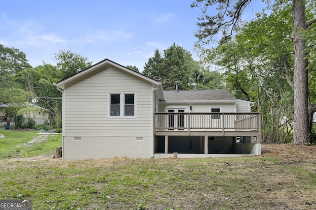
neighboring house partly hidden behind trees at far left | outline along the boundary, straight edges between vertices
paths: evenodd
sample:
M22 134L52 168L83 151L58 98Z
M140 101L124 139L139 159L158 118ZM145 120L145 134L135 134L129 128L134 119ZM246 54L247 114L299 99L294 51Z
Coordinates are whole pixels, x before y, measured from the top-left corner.
M0 125L4 126L4 124L7 124L7 118L4 113L4 109L8 107L9 105L7 104L0 104ZM23 114L23 118L28 119L32 118L35 122L35 125L41 125L41 124L48 124L49 123L49 111L47 109L44 109L40 106L34 105L34 104L29 104L31 109L28 110L26 109L26 114ZM11 126L14 125L14 122L11 119L10 124ZM13 124L12 124L13 123Z

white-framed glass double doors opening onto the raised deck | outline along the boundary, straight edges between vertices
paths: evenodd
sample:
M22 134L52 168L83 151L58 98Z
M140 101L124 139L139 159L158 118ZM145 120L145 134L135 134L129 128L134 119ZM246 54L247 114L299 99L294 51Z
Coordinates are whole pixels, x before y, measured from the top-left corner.
M185 128L185 122L186 122L186 116L184 113L186 109L184 108L168 108L168 129L169 130L184 130ZM174 114L171 114L174 113Z

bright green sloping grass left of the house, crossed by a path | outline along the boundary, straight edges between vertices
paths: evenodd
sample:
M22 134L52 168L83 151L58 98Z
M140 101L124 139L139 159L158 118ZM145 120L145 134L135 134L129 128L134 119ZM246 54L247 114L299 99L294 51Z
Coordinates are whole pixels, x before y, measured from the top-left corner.
M35 142L32 146L20 146L44 138L39 132L0 130L5 138L0 139L0 159L12 157L32 157L37 155L54 154L57 146L61 146L61 134L49 135L47 140ZM19 145L19 147L17 147Z

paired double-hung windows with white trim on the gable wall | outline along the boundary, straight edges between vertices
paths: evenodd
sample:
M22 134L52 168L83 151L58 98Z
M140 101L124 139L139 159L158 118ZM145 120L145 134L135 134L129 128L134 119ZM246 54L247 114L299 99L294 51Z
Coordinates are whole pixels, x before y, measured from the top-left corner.
M109 93L109 117L136 117L136 93Z

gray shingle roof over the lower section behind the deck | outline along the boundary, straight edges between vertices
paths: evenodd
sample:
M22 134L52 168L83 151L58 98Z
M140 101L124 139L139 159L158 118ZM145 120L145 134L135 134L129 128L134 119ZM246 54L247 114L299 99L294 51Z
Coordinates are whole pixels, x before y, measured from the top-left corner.
M228 90L163 90L166 101L237 100Z

